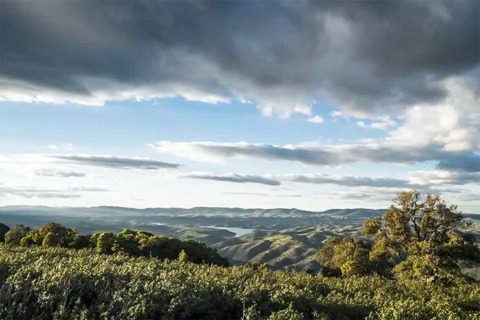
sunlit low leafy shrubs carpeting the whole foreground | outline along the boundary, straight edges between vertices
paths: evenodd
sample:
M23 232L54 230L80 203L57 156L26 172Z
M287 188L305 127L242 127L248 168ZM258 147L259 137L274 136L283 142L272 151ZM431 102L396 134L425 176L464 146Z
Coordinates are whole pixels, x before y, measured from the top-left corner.
M478 283L0 245L0 319L479 319Z

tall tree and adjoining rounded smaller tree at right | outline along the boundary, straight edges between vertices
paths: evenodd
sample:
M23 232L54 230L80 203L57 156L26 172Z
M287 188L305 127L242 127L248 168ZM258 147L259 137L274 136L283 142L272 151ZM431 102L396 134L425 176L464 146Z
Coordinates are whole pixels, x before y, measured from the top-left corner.
M438 195L401 192L382 217L363 224L363 238L332 237L319 250L323 274L381 274L449 284L472 281L463 267L479 263L480 250L457 206Z

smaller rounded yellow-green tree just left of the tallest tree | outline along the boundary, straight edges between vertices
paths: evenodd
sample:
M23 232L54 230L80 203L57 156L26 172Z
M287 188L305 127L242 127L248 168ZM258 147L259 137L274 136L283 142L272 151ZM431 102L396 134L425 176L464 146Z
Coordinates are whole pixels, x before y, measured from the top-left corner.
M328 274L368 274L373 270L369 252L370 246L361 239L330 237L319 250L317 261Z

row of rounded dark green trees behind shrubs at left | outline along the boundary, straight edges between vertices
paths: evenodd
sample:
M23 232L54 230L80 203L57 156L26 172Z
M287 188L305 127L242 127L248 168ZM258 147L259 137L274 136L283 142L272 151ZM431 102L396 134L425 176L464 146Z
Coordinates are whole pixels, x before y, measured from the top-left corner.
M203 242L190 239L181 241L146 231L128 229L117 234L106 231L82 235L76 228L66 228L53 222L46 223L38 230L32 230L23 225L8 228L0 223L0 241L4 241L9 246L91 248L102 254L118 253L162 260L181 259L193 263L228 266L228 259L221 257L217 250L206 246Z

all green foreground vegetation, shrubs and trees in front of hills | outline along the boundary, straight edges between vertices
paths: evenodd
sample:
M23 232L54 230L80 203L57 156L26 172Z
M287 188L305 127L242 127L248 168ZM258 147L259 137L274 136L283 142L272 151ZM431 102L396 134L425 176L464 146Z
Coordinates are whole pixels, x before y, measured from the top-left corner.
M466 227L438 196L402 192L364 237L327 239L309 274L228 267L204 243L145 231L0 223L0 319L480 319Z

